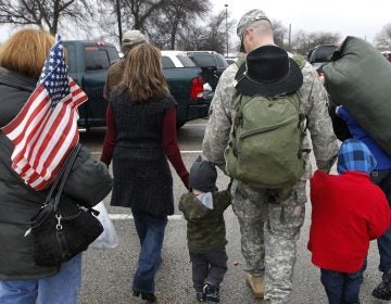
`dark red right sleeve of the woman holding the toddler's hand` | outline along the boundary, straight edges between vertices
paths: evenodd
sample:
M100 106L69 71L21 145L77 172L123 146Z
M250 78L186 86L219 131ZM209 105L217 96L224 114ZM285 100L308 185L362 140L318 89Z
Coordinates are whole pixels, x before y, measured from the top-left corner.
M162 142L164 151L179 175L186 188L189 189L189 173L180 156L176 137L176 109L168 110L163 119Z

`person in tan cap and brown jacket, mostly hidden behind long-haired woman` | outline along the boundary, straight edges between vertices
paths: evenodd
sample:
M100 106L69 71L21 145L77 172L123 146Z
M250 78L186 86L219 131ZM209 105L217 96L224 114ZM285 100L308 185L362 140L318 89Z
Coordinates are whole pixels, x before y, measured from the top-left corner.
M118 62L110 66L108 71L108 77L103 89L103 97L109 101L112 89L119 84L122 75L125 69L125 59L128 52L139 43L146 43L148 39L141 34L140 30L133 29L125 31L121 41L121 51L124 53L124 58Z

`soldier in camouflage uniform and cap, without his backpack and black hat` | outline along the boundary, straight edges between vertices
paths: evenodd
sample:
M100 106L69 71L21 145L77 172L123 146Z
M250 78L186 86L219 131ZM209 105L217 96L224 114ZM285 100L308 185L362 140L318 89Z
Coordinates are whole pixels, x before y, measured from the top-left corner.
M239 21L237 34L241 49L249 53L262 46L275 45L269 18L261 10L247 12ZM210 118L203 139L203 154L225 172L224 151L227 147L232 122L237 113L238 66L231 64L220 76L210 110ZM311 64L302 68L303 85L299 89L300 111L305 114L311 131L316 165L328 173L338 154L327 112L327 94ZM306 138L303 148L310 148ZM305 170L288 199L269 202L264 190L234 180L231 186L232 208L238 216L241 231L241 250L247 262L245 281L256 297L267 303L288 303L292 290L292 273L295 246L304 221L306 180L312 168L305 154ZM272 174L272 173L265 173ZM285 220L281 220L281 214Z

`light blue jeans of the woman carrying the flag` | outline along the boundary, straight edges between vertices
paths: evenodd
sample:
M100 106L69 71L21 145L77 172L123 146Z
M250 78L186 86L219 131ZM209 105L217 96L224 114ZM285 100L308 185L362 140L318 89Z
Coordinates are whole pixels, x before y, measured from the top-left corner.
M80 288L81 254L78 254L63 263L60 271L52 277L36 280L0 280L0 303L76 304Z

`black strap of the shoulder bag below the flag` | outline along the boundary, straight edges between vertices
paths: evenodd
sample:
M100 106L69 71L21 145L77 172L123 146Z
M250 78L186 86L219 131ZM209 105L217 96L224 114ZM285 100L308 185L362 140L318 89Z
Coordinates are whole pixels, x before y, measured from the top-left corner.
M53 198L53 193L55 192L54 197L54 211L59 207L60 197L64 189L65 181L67 179L67 176L70 175L71 168L73 167L73 164L75 163L76 156L78 152L80 151L81 145L78 143L71 152L71 154L66 157L64 164L62 165L59 174L56 175L52 186L50 187L49 193L46 198L45 204L49 203L50 200Z

